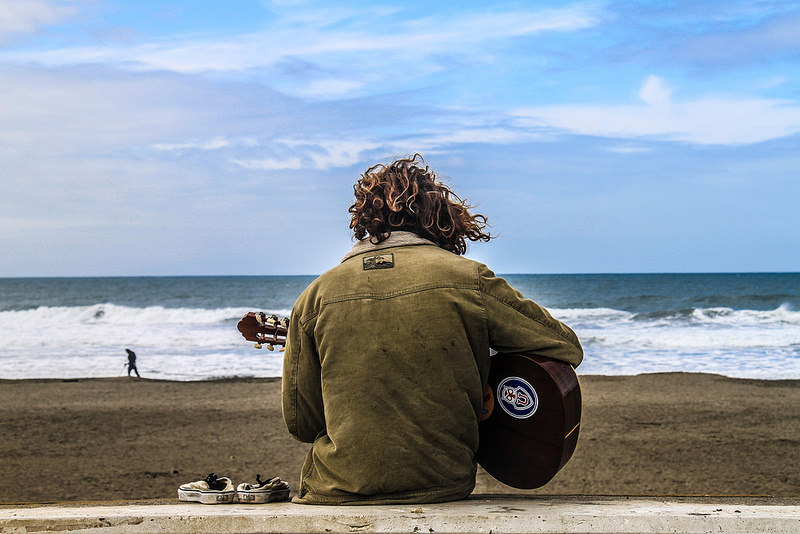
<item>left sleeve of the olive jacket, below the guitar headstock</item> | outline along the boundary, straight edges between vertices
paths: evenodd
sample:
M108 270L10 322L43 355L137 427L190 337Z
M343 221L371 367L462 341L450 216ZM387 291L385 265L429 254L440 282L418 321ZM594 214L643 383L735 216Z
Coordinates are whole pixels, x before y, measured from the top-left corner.
M289 433L295 439L312 443L325 429L325 410L319 355L313 336L306 332L302 323L302 312L303 307L295 305L289 320L281 396L283 420Z

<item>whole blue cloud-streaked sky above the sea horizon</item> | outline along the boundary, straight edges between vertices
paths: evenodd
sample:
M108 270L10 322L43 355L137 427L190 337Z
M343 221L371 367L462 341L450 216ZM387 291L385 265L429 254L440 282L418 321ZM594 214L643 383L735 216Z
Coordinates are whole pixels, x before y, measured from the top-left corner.
M421 153L501 273L800 270L800 4L0 0L0 276L316 274Z

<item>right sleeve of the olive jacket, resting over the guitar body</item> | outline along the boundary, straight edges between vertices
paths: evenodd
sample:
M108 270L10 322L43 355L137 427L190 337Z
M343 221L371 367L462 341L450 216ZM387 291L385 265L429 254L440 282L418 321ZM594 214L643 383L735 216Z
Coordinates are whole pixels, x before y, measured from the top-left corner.
M583 348L567 325L488 267L478 269L481 293L489 322L489 346L498 352L533 352L577 367Z

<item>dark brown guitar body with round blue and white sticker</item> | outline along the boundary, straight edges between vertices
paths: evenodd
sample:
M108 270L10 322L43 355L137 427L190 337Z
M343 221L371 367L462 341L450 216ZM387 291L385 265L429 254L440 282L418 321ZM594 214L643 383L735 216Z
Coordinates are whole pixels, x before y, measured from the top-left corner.
M541 487L578 443L578 377L568 363L533 354L501 353L491 362L478 463L503 484Z

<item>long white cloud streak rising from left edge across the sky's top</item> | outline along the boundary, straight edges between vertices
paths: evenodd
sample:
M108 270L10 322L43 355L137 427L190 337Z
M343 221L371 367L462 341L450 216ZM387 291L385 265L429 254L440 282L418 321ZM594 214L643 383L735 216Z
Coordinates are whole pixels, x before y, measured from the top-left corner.
M320 12L321 11L321 12ZM286 7L260 32L243 35L176 36L138 44L9 50L0 60L46 66L109 64L139 71L255 76L273 87L306 97L391 90L401 80L447 68L448 56L494 60L487 43L541 32L575 31L598 22L597 9L576 4L559 9L468 12L449 18L398 20L392 10L347 17L347 10ZM357 13L353 13L354 15ZM382 18L383 17L383 18ZM385 25L391 23L392 31ZM299 65L290 71L286 65ZM324 67L323 67L324 66ZM404 82L405 83L405 82Z

